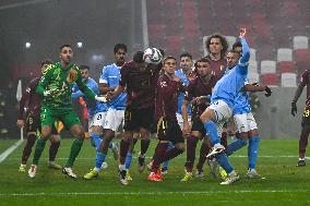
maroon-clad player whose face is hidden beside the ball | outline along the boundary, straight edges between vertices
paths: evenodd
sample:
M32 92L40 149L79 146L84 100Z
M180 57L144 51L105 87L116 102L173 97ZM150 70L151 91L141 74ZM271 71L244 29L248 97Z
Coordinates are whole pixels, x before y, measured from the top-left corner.
M143 52L136 51L133 60L126 62L121 68L119 85L115 92L110 92L109 94L110 99L114 100L124 89L127 92L124 132L120 142L119 165L120 182L123 185L128 184L124 160L133 138L133 133L136 131L140 131L141 134L141 152L138 162L139 172L142 172L145 168L145 153L150 145L150 131L154 122L155 85L160 69L162 63L146 63L143 60Z

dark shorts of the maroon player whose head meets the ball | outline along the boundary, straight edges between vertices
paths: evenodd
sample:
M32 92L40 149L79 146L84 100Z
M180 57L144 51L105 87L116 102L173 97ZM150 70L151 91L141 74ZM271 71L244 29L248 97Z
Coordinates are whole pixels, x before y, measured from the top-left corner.
M135 109L127 107L124 110L126 131L140 131L141 128L152 131L154 125L154 108Z

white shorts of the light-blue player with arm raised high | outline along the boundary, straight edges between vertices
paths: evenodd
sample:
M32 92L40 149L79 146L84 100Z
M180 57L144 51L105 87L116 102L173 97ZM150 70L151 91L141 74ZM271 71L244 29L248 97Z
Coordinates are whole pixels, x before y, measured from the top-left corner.
M228 105L223 100L217 100L213 104L211 104L208 109L212 109L215 113L215 123L217 126L217 134L218 136L222 135L223 125L228 121L228 119L231 117L233 111Z

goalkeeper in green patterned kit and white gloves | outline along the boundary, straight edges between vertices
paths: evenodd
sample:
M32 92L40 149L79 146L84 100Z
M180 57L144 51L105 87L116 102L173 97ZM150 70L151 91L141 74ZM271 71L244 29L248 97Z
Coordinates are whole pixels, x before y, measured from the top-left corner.
M96 96L82 81L80 69L71 63L73 51L70 45L60 47L59 58L60 62L48 65L36 87L37 94L43 96L40 108L41 138L37 141L33 165L28 170L29 178L35 178L45 143L50 138L51 126L56 120L60 120L64 128L70 130L73 136L76 137L71 146L70 156L62 172L72 179L76 179L72 166L81 150L85 133L72 108L71 94L73 84L76 83L85 96L92 100L106 100L104 97Z

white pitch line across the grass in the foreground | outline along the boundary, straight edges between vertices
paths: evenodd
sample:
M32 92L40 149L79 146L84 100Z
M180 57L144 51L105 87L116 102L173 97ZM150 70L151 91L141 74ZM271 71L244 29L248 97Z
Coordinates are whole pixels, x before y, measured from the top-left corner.
M0 196L76 196L76 195L170 195L170 194L226 194L226 193L309 193L310 190L262 190L262 191L175 191L175 192L102 192L102 193L90 193L90 192L76 192L76 193L0 193Z

